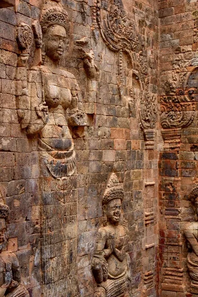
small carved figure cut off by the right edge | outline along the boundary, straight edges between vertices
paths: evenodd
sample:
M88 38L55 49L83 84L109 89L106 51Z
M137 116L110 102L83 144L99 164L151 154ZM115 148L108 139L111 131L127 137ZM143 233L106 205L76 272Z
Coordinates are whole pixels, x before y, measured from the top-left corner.
M194 205L196 221L186 223L184 234L190 249L187 256L189 274L192 283L198 286L198 186L191 191L190 198Z

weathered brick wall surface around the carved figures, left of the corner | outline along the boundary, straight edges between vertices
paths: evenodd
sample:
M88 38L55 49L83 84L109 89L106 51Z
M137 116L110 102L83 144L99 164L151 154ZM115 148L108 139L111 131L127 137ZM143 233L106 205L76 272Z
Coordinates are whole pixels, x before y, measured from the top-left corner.
M176 26L170 27L168 19L173 18L174 7L171 4L170 8L163 7L164 2L169 3L169 1L159 2L161 8L160 69L162 72L160 92L163 92L163 77L170 75L172 70L171 59L176 56L173 49L184 45L184 49L181 49L183 52L188 48L189 44L186 45L185 40L187 42L191 31L190 39L193 39L191 26L196 22L192 19L187 20L187 25L191 30L187 35L188 38L185 30L178 29L177 34L172 32L171 30L176 29ZM123 0L124 8L137 32L139 64L144 65L146 70L141 73L137 66L137 56L134 53L130 55L129 52L123 50L121 91L118 87L119 53L106 46L99 28L94 25L96 2L62 0L61 3L68 13L71 24L69 47L62 58L61 65L73 73L77 79L81 89L83 108L87 114L85 129L79 128L72 135L77 156L79 294L80 296L95 296L96 282L91 271L91 261L97 232L102 224L102 195L109 174L115 172L123 183L125 192L123 222L129 228L128 254L131 273L129 294L130 297L154 297L157 296L158 289L156 273L158 257L157 148L162 150L162 139L159 138L159 147L157 147L156 137L159 125L156 110L153 113L156 125L152 129L145 128L146 126L141 128L141 118L145 119L145 112L147 114L150 107L144 105L145 102L141 101L139 96L145 91L141 87L143 83L148 87L148 98L157 95L158 1ZM105 4L105 2L102 3ZM179 12L182 4L178 4L181 8L176 6L178 26L182 24L184 13L187 18L190 18L190 15L192 17L191 10L196 9ZM191 7L190 5L194 7L196 3L183 6ZM22 284L28 289L31 297L41 296L42 291L41 173L38 136L27 137L26 132L21 129L17 116L15 78L19 50L16 43L16 30L21 22L31 27L33 21L39 19L42 7L42 0L20 0L16 12L13 7L0 9L0 195L4 203L10 207L10 215L6 224L8 250L13 251L19 260ZM167 32L163 33L163 30ZM179 31L182 32L181 36ZM86 39L83 46L82 43L76 42L82 38ZM180 39L182 44L179 44ZM91 50L94 52L95 63L100 70L99 79L93 83L87 78L83 67L83 55ZM191 50L184 53L185 60L194 57L191 56ZM35 46L33 45L30 50L28 67L33 64L34 52ZM154 133L154 144L152 141L151 144L149 140L147 141L146 134L144 134L146 130L152 130ZM185 135L182 137L186 139ZM162 159L165 158L166 156L163 155ZM188 157L184 160L188 160ZM171 166L174 167L175 163L174 159ZM185 163L183 165L185 166ZM190 170L191 174L194 174L193 170ZM187 201L186 203L188 204ZM187 207L187 204L184 206ZM64 296L69 294L69 288L64 294Z

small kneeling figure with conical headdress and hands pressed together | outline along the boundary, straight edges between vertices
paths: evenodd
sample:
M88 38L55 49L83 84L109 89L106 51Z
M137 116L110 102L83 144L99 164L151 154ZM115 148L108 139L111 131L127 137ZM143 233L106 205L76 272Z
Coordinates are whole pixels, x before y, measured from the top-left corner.
M112 173L102 199L106 226L99 228L92 271L98 283L97 297L128 297L128 229L120 224L124 192Z

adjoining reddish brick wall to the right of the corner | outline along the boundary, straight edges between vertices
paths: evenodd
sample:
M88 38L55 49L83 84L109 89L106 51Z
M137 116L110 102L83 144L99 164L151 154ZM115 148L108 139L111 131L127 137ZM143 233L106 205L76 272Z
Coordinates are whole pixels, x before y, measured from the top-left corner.
M171 297L198 294L197 9L159 2L159 293Z

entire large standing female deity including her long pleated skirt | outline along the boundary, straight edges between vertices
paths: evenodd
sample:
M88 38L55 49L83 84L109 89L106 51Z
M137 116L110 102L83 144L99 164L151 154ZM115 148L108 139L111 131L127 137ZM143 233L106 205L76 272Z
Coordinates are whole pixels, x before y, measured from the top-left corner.
M77 80L60 65L69 43L66 10L59 1L45 1L40 24L33 28L43 59L27 70L30 113L21 112L21 126L30 137L38 135L42 296L76 297L77 178L71 128L86 123Z

